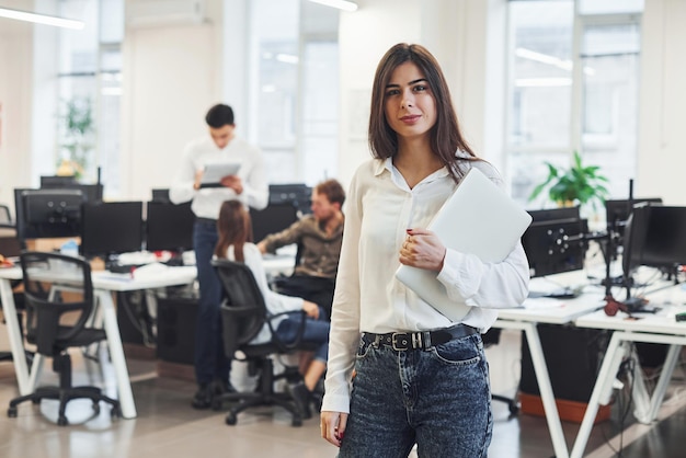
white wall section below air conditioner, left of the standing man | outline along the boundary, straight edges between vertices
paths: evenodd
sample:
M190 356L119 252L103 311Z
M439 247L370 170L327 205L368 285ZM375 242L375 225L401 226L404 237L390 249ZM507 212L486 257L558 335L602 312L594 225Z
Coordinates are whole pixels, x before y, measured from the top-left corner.
M185 144L207 135L205 113L222 102L221 1L206 4L203 24L126 30L121 170L127 198L148 199L151 188L169 187Z

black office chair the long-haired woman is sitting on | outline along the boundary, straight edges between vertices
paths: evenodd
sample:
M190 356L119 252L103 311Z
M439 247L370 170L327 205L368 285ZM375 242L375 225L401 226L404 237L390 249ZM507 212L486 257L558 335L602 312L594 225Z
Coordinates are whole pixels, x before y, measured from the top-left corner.
M226 392L215 398L213 409L220 410L224 402L238 401L232 405L226 415L226 424L235 425L237 415L243 410L256 405L281 405L291 413L293 426L302 424L302 412L296 407L293 398L285 392L275 392L274 382L278 379L286 379L287 382L295 383L301 381L302 377L297 367L286 367L281 374L274 374L273 358L286 354L293 354L300 350L313 350L311 344L301 343L302 331L305 330L306 316L301 311L302 318L298 336L293 343L282 342L272 329L271 320L284 313L270 316L264 302L264 297L260 291L258 283L250 267L242 263L228 260L214 260L213 266L221 280L225 300L221 304L221 323L224 334L224 348L228 357L248 363L248 371L251 376L259 375L259 387L252 392ZM288 312L294 313L294 312ZM251 344L250 342L267 323L272 331L272 341L263 344ZM244 357L237 357L240 351Z

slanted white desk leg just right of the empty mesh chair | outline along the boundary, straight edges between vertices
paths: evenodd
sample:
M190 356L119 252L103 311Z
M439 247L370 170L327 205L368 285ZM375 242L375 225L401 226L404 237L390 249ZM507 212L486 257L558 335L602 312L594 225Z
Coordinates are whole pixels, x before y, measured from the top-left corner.
M126 368L126 359L124 357L124 347L122 346L122 336L119 335L119 325L112 300L112 293L107 290L96 290L103 313L103 323L107 333L107 345L110 346L110 357L114 366L114 373L117 378L117 389L119 392L119 404L122 405L122 415L125 419L136 417L136 404L134 403L134 394L132 392L132 382L128 378L128 369Z

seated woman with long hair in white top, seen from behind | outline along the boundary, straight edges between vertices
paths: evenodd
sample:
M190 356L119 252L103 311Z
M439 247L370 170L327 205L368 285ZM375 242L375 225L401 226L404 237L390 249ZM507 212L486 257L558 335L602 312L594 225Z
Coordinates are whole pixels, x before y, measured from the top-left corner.
M226 201L221 204L219 219L217 220L219 241L215 249L215 255L229 261L242 262L252 271L253 276L262 291L264 302L270 313L276 314L285 311L302 310L307 313L304 342L315 342L319 346L315 351L315 357L307 364L304 370L304 382L290 387L294 400L302 412L302 416L311 416L309 400L311 392L319 379L327 370L327 356L329 354L329 321L319 320L320 308L317 304L304 300L299 297L281 295L270 289L266 274L262 265L262 253L252 243L252 225L248 209L238 201ZM300 327L298 313L285 314L272 320L278 337L284 342L294 342ZM252 343L264 343L271 339L268 325L258 333Z

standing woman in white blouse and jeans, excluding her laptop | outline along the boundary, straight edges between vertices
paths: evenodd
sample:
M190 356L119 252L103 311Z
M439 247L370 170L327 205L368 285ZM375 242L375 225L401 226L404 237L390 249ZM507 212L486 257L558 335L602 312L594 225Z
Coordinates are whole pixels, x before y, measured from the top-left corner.
M493 419L481 333L496 308L527 295L517 244L500 263L446 249L425 228L470 168L502 186L460 134L443 71L422 46L398 44L371 88L374 159L348 187L321 435L339 458L485 457ZM433 271L457 306L451 321L395 277ZM353 378L354 370L354 378Z

